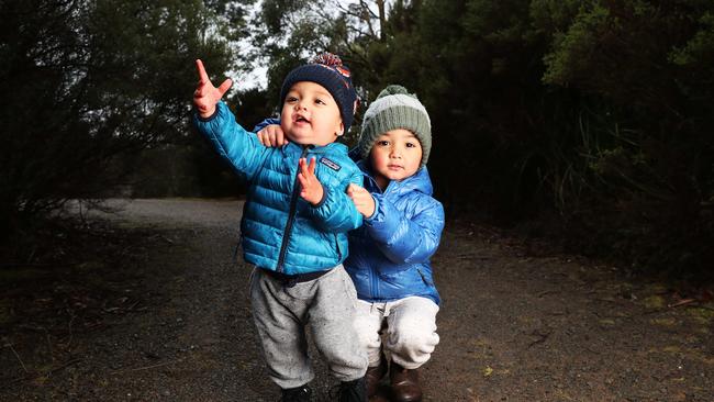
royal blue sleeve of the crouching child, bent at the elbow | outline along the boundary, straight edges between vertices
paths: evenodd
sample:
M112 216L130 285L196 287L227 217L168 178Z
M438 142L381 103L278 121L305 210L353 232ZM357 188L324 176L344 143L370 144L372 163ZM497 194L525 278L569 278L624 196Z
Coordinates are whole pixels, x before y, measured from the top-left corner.
M431 197L408 219L382 194L372 193L376 211L365 226L377 247L394 264L424 263L436 252L444 230L444 206Z

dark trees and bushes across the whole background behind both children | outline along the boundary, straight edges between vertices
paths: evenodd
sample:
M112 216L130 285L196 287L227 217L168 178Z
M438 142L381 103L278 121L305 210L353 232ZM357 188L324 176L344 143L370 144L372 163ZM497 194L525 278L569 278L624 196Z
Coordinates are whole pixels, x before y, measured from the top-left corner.
M196 58L216 82L267 68L226 99L252 127L331 51L361 111L394 82L425 103L450 217L711 279L711 0L4 0L0 21L0 235L19 263L69 200L241 193L190 126Z

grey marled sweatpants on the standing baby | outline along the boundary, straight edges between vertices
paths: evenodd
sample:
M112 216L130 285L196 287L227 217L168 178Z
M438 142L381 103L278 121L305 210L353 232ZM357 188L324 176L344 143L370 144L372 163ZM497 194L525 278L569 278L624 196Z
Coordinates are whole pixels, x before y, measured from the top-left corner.
M365 376L367 354L354 328L357 292L342 265L291 288L256 268L250 276L250 301L270 378L280 388L300 387L314 378L308 324L333 376L341 381Z

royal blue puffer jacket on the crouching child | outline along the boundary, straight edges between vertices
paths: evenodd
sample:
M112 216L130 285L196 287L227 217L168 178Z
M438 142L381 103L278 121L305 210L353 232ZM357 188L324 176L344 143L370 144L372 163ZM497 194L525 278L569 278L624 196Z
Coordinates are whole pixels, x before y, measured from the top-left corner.
M365 301L391 301L420 295L439 303L429 257L444 230L444 208L432 198L426 168L382 192L364 160L365 188L376 200L375 214L349 233L345 269Z

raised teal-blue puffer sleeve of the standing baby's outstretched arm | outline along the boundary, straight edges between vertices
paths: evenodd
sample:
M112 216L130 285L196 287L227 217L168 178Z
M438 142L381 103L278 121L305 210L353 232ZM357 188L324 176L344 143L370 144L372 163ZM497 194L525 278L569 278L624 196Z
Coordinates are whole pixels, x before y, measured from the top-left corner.
M193 114L193 124L231 166L250 180L259 170L267 150L256 135L245 131L223 102L219 102L215 113L208 119Z

